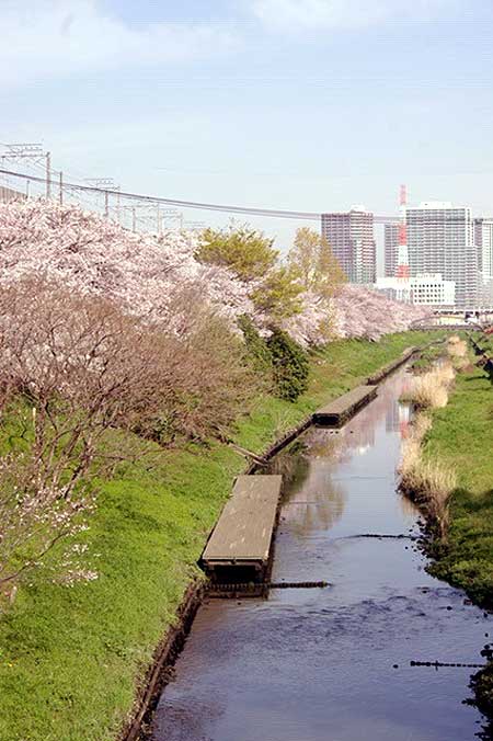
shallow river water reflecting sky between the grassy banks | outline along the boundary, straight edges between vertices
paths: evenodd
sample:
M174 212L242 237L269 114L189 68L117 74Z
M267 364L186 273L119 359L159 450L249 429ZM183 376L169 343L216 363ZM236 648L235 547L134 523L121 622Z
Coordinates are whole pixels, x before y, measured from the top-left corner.
M343 430L310 429L273 463L286 477L268 600L210 600L198 612L153 741L472 741L467 668L489 617L429 577L419 513L395 492L410 410L405 371ZM362 537L363 536L363 537Z

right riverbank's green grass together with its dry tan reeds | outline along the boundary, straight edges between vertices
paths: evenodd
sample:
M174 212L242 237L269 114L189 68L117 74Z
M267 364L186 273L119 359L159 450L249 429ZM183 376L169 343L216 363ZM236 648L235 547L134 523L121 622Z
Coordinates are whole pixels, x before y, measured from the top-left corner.
M474 365L466 342L451 338L446 375L432 371L426 392L416 381L421 406L403 449L402 489L424 509L431 539L432 574L463 589L477 604L493 608L493 399L491 379ZM450 368L450 366L447 366ZM424 402L424 403L423 403ZM444 403L445 402L445 403ZM426 410L426 411L425 411ZM474 704L493 727L492 651L471 682Z

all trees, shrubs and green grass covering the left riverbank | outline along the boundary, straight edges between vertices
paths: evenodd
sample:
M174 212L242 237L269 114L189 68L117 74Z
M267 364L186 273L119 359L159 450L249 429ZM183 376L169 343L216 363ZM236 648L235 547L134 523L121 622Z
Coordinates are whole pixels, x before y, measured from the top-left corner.
M423 312L345 286L310 230L282 260L38 201L0 206L0 739L116 739L236 449L428 335L382 337Z

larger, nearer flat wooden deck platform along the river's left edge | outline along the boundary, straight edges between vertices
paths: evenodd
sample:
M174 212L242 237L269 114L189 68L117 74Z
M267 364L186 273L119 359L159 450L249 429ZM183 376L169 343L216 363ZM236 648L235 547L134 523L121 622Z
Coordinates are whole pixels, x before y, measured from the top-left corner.
M277 521L282 476L239 476L202 556L213 582L261 582Z

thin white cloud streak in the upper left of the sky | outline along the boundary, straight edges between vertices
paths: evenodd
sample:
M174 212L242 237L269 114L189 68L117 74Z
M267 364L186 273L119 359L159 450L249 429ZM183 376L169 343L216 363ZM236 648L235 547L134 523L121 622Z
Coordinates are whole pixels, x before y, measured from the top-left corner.
M104 12L101 0L7 0L1 26L3 87L108 69L188 62L229 54L240 43L228 23L129 25Z

